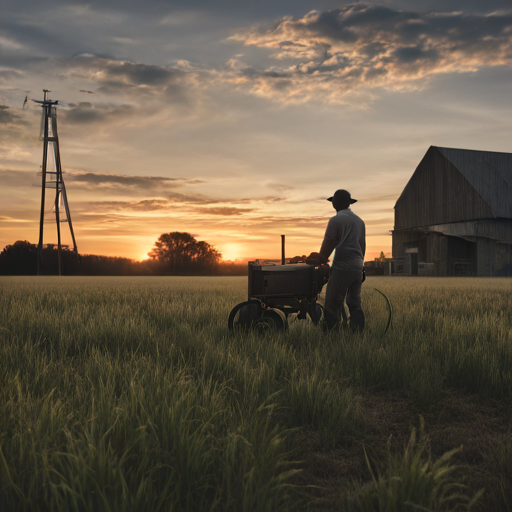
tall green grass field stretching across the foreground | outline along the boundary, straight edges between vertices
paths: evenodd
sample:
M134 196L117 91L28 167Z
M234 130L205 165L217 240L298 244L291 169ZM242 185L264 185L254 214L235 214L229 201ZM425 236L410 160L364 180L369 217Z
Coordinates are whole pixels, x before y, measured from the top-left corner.
M231 335L238 277L0 290L2 511L512 510L510 279L370 277L361 335Z

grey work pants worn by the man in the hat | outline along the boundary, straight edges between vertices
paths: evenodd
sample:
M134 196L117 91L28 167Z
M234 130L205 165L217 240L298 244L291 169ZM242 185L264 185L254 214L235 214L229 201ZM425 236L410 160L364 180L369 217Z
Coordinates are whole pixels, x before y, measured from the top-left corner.
M327 330L331 331L340 327L348 327L354 331L364 329L364 312L361 307L361 284L363 279L362 270L339 270L333 268L327 283L325 293L325 323ZM347 303L350 324L345 310Z

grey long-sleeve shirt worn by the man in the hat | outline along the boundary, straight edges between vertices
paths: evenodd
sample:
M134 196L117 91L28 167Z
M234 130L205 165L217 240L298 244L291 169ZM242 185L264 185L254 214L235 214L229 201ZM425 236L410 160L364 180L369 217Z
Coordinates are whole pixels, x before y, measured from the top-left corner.
M329 258L336 249L333 268L363 270L365 234L366 228L360 217L349 209L340 210L327 224L320 254Z

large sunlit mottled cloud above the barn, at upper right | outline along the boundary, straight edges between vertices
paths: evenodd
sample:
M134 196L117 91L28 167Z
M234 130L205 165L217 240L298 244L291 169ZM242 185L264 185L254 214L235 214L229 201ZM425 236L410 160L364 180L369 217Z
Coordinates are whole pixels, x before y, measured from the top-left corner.
M357 3L287 16L230 39L271 50L277 64L256 69L236 56L228 63L232 83L289 102L341 103L368 98L378 88L418 89L441 73L510 65L512 14L420 13Z

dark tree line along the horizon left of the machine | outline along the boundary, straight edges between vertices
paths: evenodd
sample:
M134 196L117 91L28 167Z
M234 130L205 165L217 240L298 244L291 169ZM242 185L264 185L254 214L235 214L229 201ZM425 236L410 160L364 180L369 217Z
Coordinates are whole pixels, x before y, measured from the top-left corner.
M149 259L77 255L62 250L64 275L150 276L150 275L246 275L247 264L221 261L222 255L208 242L198 241L190 233L174 231L160 235ZM26 240L7 245L0 253L0 275L35 275L37 245ZM41 251L40 273L58 273L56 246L48 244Z

